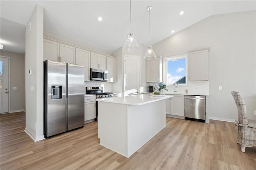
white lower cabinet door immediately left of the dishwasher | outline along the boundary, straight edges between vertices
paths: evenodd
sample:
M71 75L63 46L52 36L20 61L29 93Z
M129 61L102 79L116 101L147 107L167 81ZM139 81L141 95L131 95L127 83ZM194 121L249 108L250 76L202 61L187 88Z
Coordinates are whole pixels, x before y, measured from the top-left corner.
M184 96L174 95L171 98L171 115L184 116Z

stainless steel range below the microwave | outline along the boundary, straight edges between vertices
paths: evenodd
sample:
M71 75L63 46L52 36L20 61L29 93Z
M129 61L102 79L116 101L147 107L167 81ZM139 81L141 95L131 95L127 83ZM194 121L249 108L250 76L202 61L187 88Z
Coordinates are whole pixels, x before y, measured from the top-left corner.
M86 87L86 94L96 95L96 99L113 97L113 93L103 93L102 87ZM98 121L98 101L96 101L96 119Z

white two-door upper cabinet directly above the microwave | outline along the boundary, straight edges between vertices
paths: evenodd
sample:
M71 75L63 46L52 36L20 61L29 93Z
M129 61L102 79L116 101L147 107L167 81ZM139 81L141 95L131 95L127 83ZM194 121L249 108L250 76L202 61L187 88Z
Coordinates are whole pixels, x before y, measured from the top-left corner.
M91 68L106 70L107 56L91 52Z

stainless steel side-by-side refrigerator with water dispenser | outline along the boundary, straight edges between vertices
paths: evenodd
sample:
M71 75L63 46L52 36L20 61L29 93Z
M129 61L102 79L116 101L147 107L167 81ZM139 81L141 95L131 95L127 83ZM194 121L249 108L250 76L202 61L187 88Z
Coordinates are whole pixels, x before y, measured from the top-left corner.
M84 126L84 66L44 61L44 136Z

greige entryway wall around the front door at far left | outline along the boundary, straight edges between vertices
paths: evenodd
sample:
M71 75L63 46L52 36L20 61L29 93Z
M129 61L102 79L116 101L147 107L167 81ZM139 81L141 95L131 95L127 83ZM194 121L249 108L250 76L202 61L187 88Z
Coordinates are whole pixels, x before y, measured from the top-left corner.
M11 109L9 113L25 111L25 54L2 51L1 55L10 57L11 63ZM17 87L13 90L12 87Z

